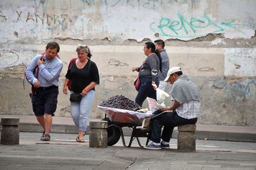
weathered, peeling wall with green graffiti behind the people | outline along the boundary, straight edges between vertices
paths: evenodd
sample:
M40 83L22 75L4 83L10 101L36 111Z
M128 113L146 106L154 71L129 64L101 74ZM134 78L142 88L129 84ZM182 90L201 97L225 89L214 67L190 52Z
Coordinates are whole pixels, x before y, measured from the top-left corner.
M0 114L33 114L23 72L54 40L60 43L64 63L56 116L70 116L62 86L76 45L83 43L99 67L91 117L100 118L97 104L103 99L136 97L131 68L145 59L144 43L161 38L170 65L182 67L200 89L199 123L256 126L255 7L253 0L3 0Z

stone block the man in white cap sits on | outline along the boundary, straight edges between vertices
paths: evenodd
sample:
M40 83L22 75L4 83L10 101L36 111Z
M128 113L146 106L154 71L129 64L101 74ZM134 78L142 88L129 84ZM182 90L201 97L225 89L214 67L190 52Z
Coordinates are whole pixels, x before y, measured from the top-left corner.
M178 126L178 150L179 151L195 151L196 150L196 125L180 125Z

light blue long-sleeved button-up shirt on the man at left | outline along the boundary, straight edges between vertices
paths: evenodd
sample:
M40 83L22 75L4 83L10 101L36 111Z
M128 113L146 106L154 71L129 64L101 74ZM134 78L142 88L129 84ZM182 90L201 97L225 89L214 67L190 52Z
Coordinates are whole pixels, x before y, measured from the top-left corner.
M36 79L36 73L34 69L37 65L38 59L40 59L42 54L38 54L32 61L29 63L26 69L26 77L31 84L34 84L36 80L40 82L40 87L49 87L49 86L58 86L60 72L63 68L62 61L55 57L51 60L47 60L44 55L44 64L39 66L38 79ZM36 69L37 70L37 69Z

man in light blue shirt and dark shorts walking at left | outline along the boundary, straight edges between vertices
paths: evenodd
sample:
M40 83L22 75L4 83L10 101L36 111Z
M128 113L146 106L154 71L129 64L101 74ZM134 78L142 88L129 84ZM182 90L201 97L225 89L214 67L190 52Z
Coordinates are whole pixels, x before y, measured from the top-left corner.
M60 46L56 42L49 42L44 54L38 54L29 63L26 77L36 89L32 98L33 112L44 133L41 141L50 141L52 116L57 107L58 84L62 61L57 57ZM35 69L38 67L38 69Z

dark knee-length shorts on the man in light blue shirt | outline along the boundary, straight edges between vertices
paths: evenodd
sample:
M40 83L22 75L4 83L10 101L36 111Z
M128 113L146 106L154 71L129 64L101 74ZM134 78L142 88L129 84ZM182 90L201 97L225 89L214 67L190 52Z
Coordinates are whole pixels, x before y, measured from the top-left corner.
M33 97L33 112L35 116L44 116L45 113L54 116L57 108L59 89L57 86L38 88Z

